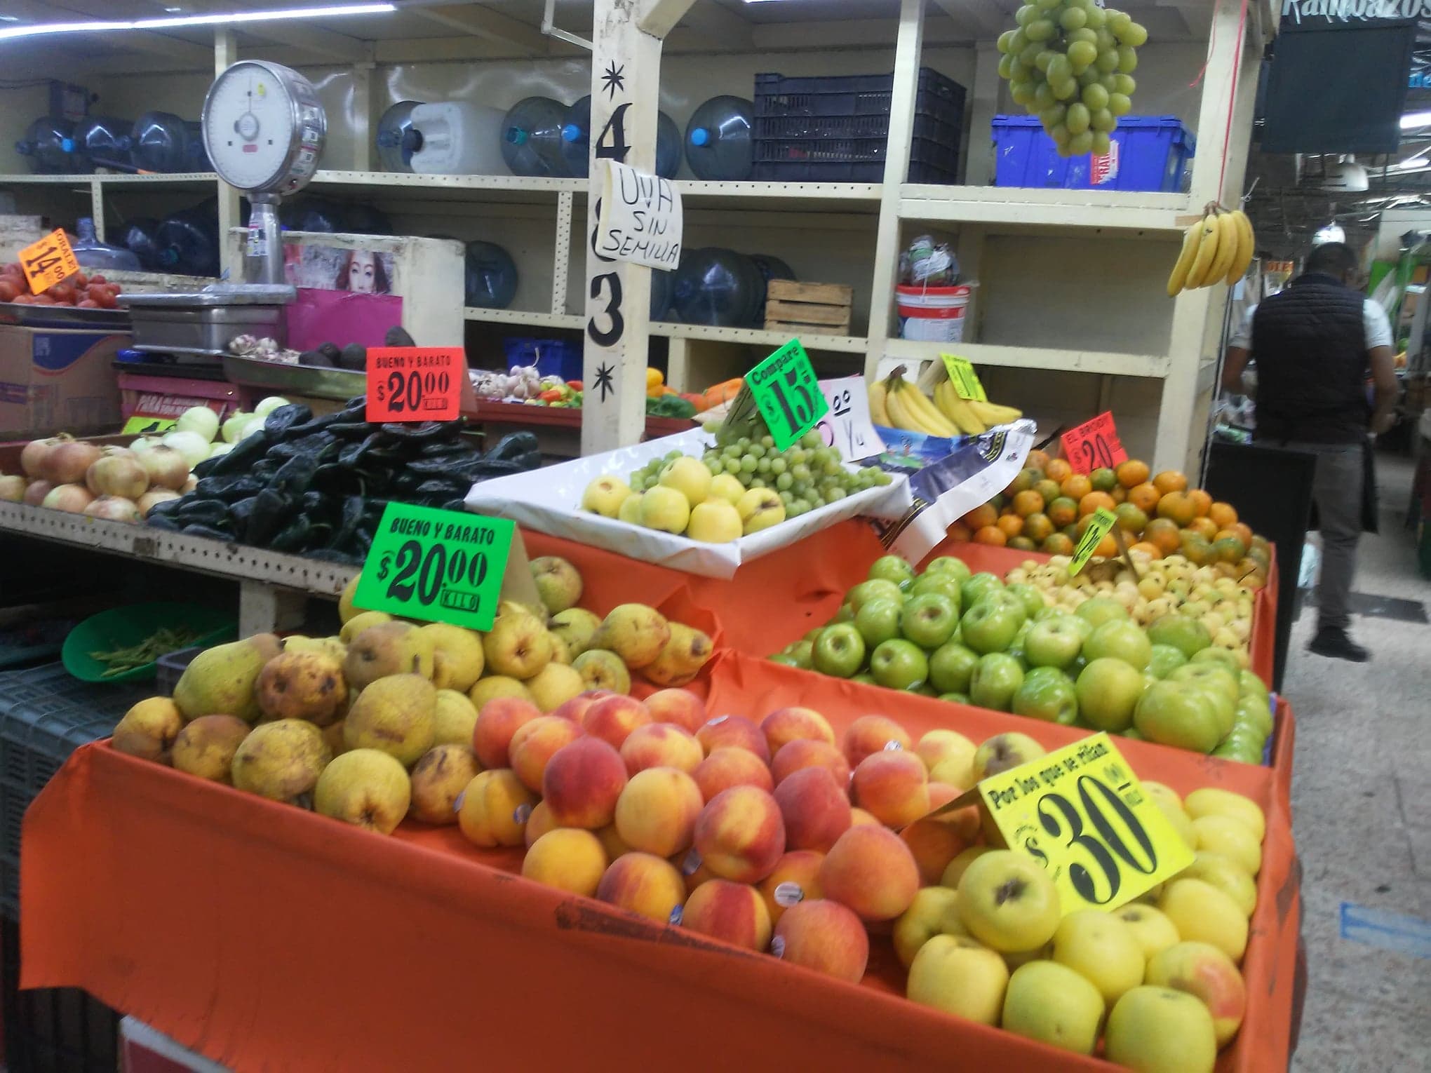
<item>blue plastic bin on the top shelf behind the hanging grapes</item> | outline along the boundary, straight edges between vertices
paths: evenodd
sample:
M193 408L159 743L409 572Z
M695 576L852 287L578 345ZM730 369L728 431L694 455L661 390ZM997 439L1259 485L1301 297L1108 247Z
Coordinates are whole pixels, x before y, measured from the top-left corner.
M995 186L1178 193L1198 147L1176 116L1123 116L1113 132L1116 173L1095 182L1093 157L1059 156L1035 116L995 116L992 126Z

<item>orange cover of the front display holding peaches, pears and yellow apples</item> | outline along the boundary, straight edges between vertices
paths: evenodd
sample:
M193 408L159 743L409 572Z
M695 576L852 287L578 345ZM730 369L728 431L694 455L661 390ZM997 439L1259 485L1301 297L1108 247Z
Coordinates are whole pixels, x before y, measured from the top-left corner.
M733 652L710 692L751 714L798 698L837 731L871 708L916 737L1026 730ZM1285 1067L1299 896L1272 774L1143 743L1126 755L1179 793L1224 785L1266 811L1248 1021L1219 1069ZM21 984L84 987L236 1070L1109 1069L906 1001L887 939L846 984L537 886L519 860L451 827L384 838L99 743L26 815Z

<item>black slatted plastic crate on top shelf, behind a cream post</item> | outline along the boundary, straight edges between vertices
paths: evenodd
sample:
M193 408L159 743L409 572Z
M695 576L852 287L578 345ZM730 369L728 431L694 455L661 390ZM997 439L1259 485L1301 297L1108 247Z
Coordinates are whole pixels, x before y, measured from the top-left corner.
M753 179L884 180L893 74L756 76ZM964 87L919 69L909 182L959 180Z

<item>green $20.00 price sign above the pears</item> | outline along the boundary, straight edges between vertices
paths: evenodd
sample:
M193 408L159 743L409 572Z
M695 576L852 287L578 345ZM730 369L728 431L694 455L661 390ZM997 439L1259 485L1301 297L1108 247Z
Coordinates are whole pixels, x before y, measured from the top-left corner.
M388 504L353 601L426 622L491 629L515 522Z

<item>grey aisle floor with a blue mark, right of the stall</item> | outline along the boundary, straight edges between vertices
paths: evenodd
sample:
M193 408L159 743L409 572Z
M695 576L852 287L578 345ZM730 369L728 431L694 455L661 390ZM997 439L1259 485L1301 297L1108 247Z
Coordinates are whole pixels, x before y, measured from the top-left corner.
M1410 462L1378 456L1378 482L1381 534L1362 536L1354 589L1431 611L1431 582L1404 526ZM1292 1067L1431 1070L1431 625L1355 618L1352 635L1372 650L1357 665L1307 651L1315 617L1304 609L1294 625L1284 681L1296 715L1292 813L1308 957ZM1355 927L1367 916L1358 907L1372 927Z

